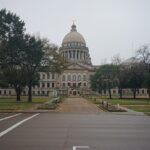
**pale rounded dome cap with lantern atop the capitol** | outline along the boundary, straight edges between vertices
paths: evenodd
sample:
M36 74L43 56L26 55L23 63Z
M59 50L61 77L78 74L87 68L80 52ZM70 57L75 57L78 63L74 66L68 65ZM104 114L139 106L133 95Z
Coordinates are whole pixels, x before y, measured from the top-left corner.
M77 32L76 25L74 24L71 26L71 31L67 35L65 35L62 44L72 43L72 42L85 44L85 40L83 36Z

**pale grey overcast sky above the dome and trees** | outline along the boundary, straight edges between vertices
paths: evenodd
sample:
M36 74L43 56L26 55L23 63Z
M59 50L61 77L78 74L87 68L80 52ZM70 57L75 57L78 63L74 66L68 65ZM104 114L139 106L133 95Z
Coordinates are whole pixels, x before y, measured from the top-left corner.
M0 0L0 8L19 15L28 33L58 46L76 20L96 65L150 44L150 0Z

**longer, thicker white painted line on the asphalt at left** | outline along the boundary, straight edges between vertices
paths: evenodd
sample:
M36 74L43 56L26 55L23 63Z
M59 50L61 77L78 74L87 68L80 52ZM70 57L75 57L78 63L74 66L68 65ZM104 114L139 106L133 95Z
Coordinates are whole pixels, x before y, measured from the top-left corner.
M28 121L28 120L30 120L30 119L36 117L36 116L39 115L39 114L40 114L40 113L35 114L35 115L32 115L32 116L30 116L30 117L28 117L28 118L26 118L26 119L24 119L24 120L22 120L22 121L19 121L18 123L14 124L13 126L9 127L8 129L2 131L2 132L0 133L0 138L1 138L2 136L4 136L5 134L7 134L8 132L12 131L13 129L17 128L18 126L20 126L20 125L23 124L24 122L26 122L26 121Z

